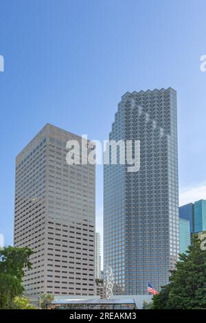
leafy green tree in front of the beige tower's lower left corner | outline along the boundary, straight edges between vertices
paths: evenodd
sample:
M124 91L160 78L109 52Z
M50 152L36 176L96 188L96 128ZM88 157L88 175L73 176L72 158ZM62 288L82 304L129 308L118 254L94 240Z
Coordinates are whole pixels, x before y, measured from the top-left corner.
M0 309L12 308L12 301L21 296L23 286L21 280L24 276L23 268L31 268L30 255L32 250L23 247L5 247L1 249L0 261Z

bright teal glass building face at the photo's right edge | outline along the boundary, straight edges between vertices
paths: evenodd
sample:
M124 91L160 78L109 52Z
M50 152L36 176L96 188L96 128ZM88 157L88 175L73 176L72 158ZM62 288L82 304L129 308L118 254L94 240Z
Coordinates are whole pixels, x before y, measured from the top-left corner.
M194 202L194 232L206 231L206 200Z

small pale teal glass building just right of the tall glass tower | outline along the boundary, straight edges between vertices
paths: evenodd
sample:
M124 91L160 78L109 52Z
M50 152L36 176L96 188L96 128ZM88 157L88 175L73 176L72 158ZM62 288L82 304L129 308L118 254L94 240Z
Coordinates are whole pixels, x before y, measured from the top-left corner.
M179 218L179 253L183 254L190 245L190 220Z

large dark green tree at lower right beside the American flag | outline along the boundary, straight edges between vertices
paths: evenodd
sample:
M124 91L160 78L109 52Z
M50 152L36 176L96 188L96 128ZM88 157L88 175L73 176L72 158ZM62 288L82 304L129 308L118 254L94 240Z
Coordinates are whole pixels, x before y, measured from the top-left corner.
M206 251L197 235L180 254L169 285L153 298L152 309L206 309Z

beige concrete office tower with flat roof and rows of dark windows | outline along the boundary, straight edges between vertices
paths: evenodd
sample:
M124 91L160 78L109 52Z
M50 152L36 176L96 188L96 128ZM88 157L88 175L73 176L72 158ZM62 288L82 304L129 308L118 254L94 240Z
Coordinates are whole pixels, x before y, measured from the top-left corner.
M95 291L95 166L68 165L69 140L81 144L46 124L16 157L14 245L35 252L23 279L30 297Z

